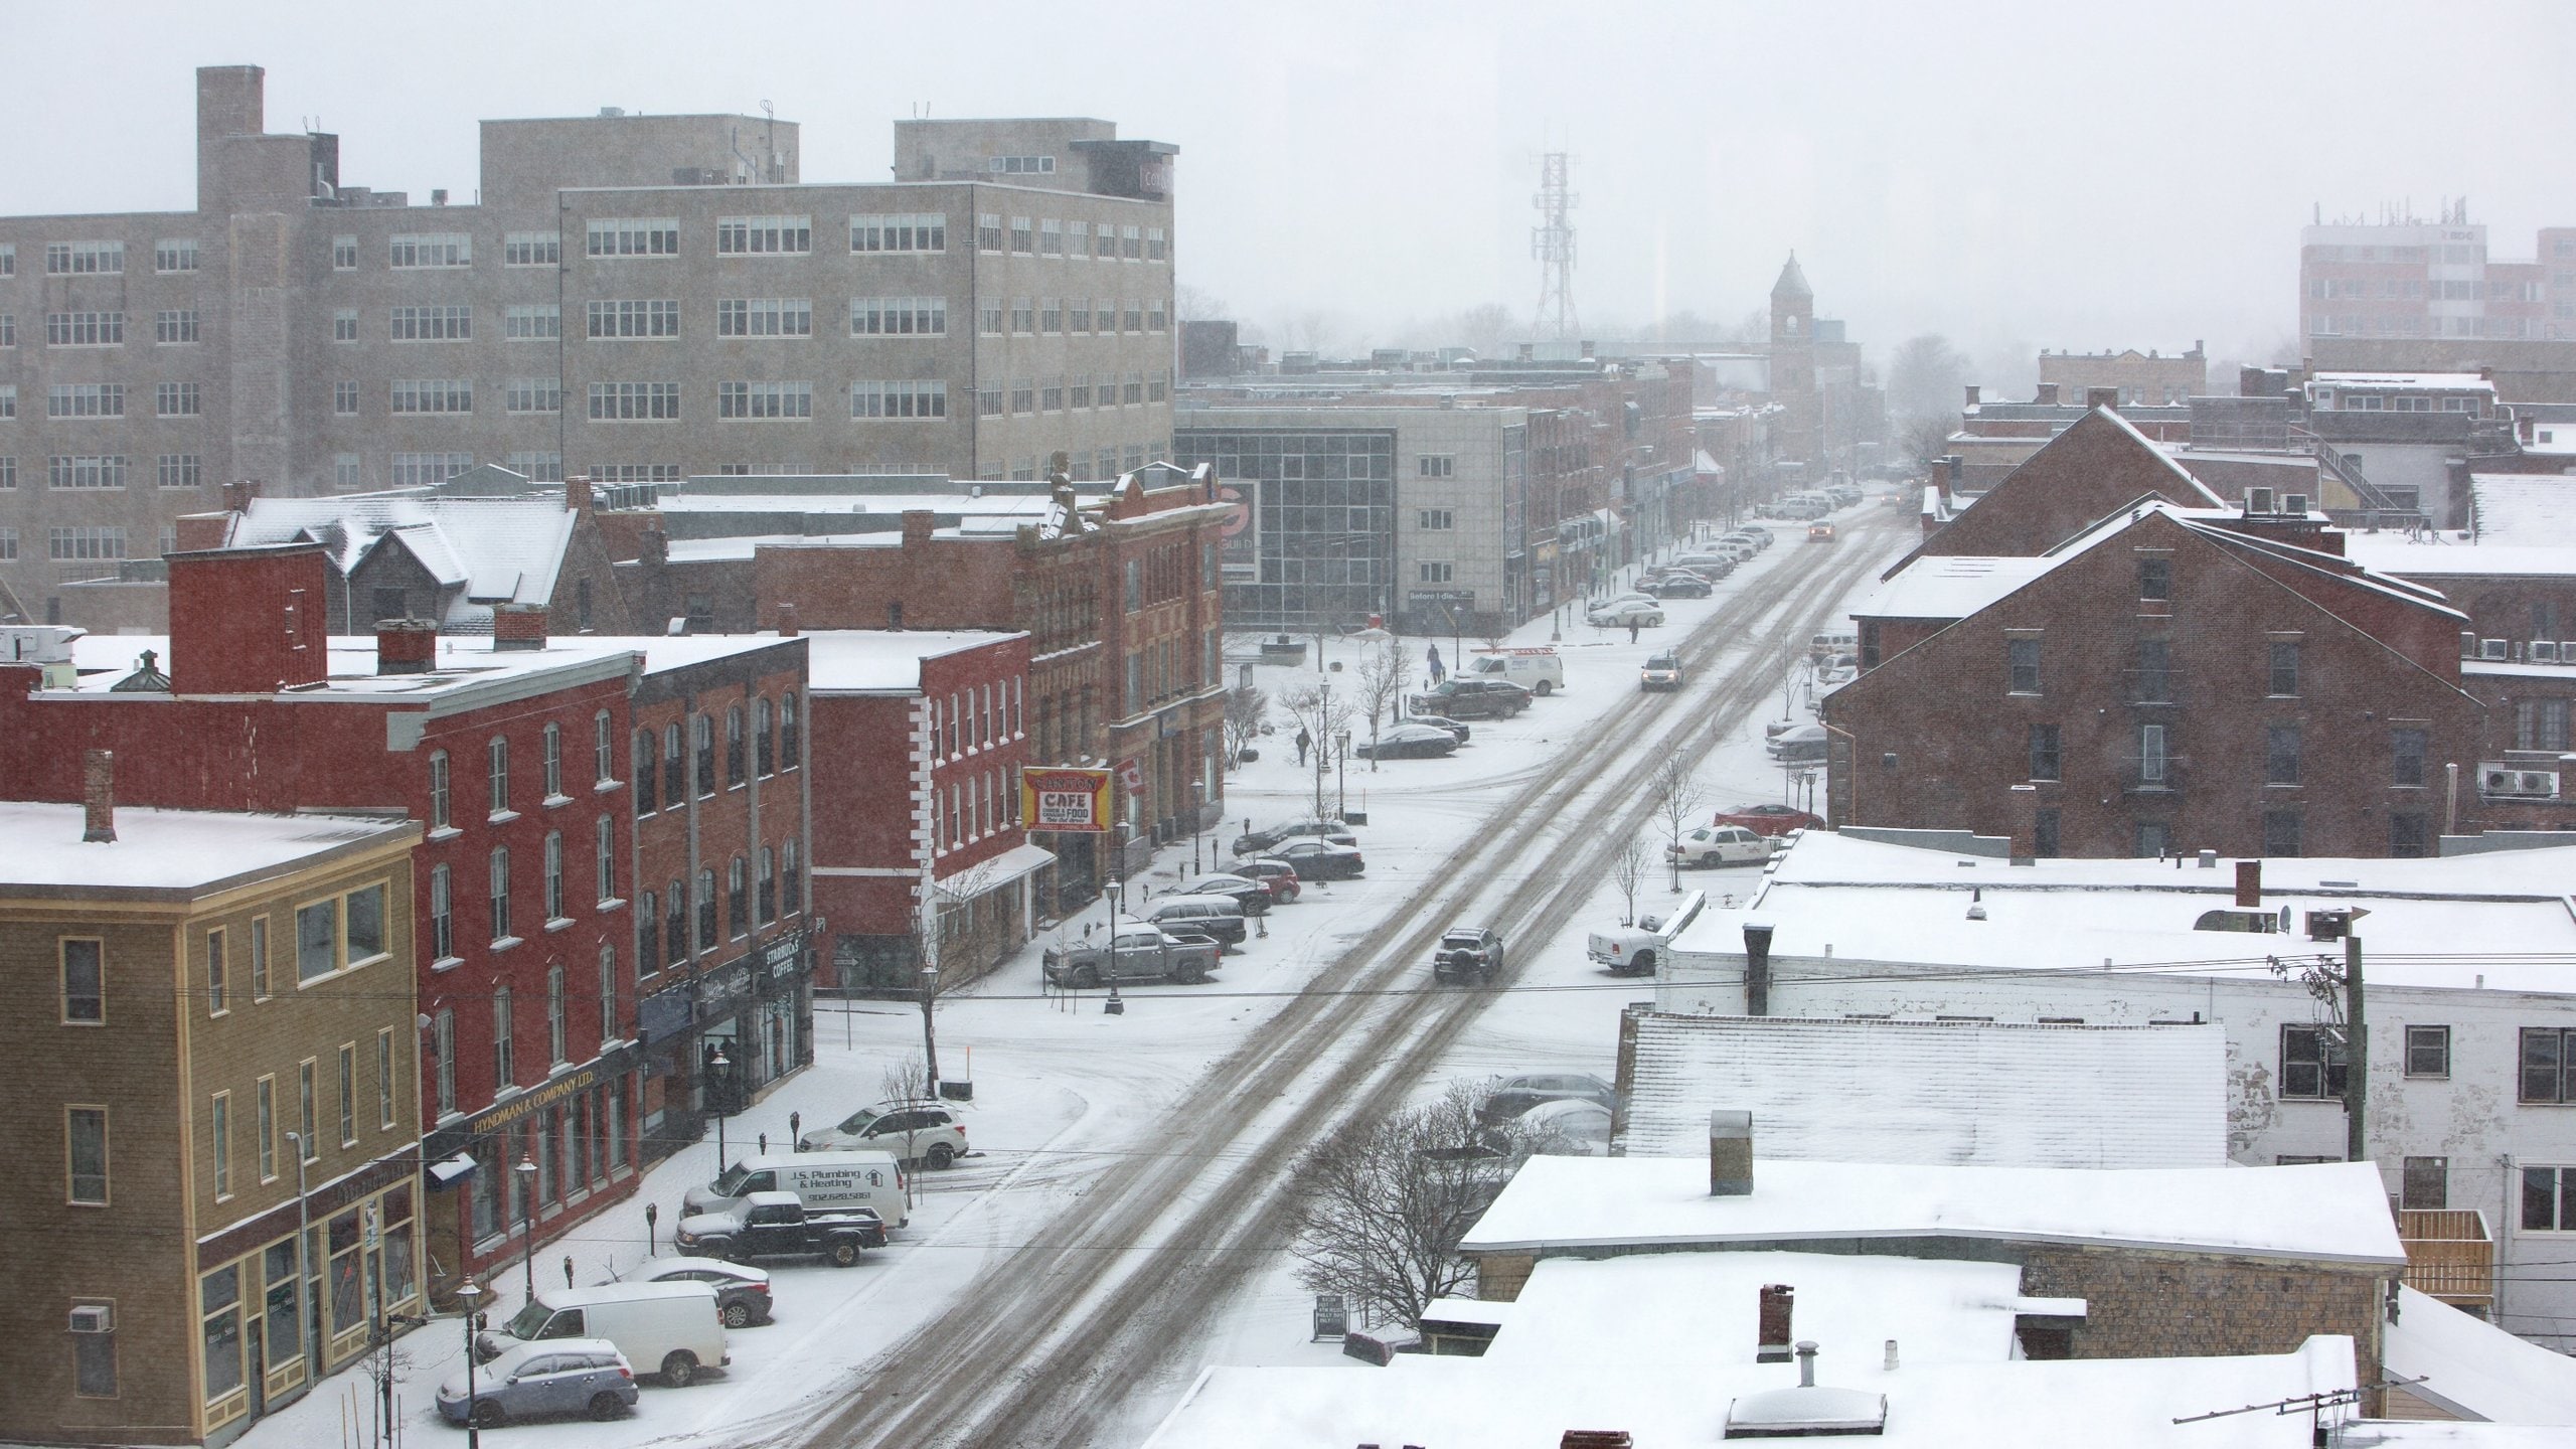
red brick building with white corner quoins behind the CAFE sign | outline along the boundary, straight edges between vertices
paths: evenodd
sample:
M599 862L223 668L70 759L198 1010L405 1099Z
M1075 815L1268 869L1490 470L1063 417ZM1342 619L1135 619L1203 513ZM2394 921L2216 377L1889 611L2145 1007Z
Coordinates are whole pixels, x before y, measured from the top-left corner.
M814 748L850 763L814 830L832 985L904 995L925 964L974 980L1054 902L1054 853L1020 820L1030 637L824 629L806 645Z

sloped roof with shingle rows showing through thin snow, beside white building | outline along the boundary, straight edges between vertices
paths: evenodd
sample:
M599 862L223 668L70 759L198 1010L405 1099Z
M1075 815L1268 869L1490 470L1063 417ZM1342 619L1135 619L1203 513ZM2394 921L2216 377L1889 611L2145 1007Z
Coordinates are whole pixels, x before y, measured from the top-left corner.
M1618 1147L1687 1155L1752 1111L1762 1152L1991 1168L2218 1168L2226 1029L1633 1018Z

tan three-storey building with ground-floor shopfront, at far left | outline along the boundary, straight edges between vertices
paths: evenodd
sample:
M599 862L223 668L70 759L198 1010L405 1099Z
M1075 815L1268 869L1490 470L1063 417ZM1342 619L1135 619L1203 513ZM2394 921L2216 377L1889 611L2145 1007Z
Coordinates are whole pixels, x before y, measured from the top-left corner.
M422 1312L420 828L118 807L121 763L0 804L0 1436L222 1444Z

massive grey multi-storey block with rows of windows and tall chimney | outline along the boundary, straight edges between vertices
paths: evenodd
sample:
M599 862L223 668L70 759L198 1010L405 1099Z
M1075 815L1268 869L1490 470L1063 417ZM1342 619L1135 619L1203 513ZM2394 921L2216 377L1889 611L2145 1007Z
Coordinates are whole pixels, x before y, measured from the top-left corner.
M809 186L768 116L484 121L471 206L343 186L198 72L193 211L0 219L0 578L173 544L214 485L721 472L1077 477L1172 436L1172 155L1090 119L902 121Z

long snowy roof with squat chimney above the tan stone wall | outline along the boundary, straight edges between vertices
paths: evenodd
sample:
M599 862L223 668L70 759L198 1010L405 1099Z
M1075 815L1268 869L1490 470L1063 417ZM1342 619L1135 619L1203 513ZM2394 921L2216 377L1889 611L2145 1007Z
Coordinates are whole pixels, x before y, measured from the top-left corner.
M1705 1119L1703 1119L1705 1122ZM1754 1150L1762 1122L1754 1119ZM2303 1168L1953 1168L1759 1155L1710 1196L1708 1155L1530 1158L1468 1253L1613 1245L1971 1238L2403 1263L2370 1163Z

